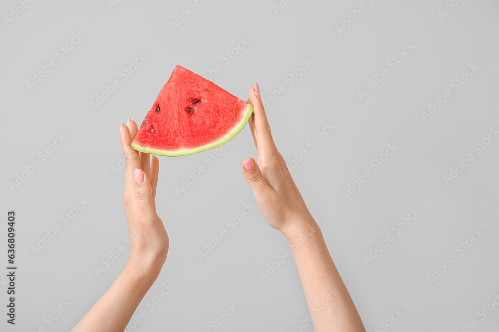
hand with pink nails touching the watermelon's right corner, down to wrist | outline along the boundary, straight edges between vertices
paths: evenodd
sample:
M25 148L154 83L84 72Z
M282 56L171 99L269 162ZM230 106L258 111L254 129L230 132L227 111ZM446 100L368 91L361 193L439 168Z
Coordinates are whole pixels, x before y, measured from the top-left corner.
M258 150L258 163L253 158L245 159L241 165L243 175L265 221L284 233L311 216L275 147L256 83L250 88L248 102L254 107L248 123Z

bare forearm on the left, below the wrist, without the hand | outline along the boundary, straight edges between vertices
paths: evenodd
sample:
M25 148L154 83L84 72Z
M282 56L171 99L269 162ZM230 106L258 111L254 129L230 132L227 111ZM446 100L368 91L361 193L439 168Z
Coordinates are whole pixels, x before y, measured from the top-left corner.
M71 331L124 331L140 301L158 277L158 269L146 270L141 271L127 264L108 291Z

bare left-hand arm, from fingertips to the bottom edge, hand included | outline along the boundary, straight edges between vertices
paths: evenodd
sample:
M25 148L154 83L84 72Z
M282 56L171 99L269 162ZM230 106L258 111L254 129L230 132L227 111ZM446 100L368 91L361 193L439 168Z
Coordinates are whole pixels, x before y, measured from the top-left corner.
M159 161L130 147L137 124L129 120L121 126L121 146L125 154L124 205L130 233L130 258L109 290L71 330L124 331L140 301L158 277L168 254L169 238L156 214L154 197ZM150 179L150 180L149 180Z

